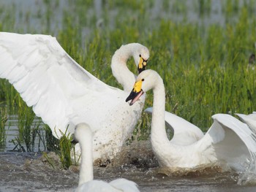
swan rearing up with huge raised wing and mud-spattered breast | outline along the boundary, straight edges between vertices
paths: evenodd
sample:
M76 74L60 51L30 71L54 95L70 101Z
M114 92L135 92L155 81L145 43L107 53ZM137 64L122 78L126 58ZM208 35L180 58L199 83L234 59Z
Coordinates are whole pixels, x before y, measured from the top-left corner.
M149 52L138 43L116 50L111 67L124 88L135 82L126 66L131 56L142 71ZM71 135L75 125L88 123L94 132L95 160L112 159L121 150L145 101L130 108L124 102L129 92L106 85L77 64L55 37L42 34L0 32L0 77L9 80L54 137L66 131Z

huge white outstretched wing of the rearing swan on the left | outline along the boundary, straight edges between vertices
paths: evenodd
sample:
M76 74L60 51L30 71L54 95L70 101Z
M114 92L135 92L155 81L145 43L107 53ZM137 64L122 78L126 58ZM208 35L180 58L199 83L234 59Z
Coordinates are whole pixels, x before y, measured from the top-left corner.
M55 37L39 34L0 33L0 77L33 106L55 137L68 125L72 132L72 124L85 117L97 121L90 111L106 112L104 107L114 106L113 94L119 93L77 64Z

